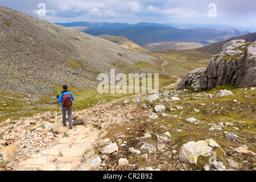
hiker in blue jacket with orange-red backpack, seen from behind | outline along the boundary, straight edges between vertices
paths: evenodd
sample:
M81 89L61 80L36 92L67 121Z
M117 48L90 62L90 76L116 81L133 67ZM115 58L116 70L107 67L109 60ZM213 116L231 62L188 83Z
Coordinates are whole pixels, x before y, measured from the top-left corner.
M59 95L57 95L58 102L61 103L61 110L62 110L62 123L64 126L66 126L66 113L68 111L68 122L69 122L69 128L73 128L73 122L72 122L72 101L75 100L72 93L68 91L68 86L63 85L63 92Z

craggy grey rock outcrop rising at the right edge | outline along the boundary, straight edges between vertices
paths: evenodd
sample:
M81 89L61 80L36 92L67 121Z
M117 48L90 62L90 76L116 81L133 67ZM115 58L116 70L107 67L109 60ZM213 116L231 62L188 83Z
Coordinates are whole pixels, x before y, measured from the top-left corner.
M224 44L223 51L210 59L206 68L188 73L179 89L208 90L216 86L237 85L240 88L256 85L256 42L232 40Z

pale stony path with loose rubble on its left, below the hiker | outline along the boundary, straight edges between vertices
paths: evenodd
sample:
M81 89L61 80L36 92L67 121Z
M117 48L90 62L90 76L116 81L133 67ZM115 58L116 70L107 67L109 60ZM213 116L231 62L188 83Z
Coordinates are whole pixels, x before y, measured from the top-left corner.
M78 111L77 117L80 114L81 119L85 113L86 110ZM92 144L98 139L100 130L92 124L77 125L69 129L68 122L67 126L60 124L60 121L57 123L56 115L57 112L46 112L20 121L9 119L1 123L2 126L9 125L10 128L15 125L15 129L9 135L3 135L1 140L3 146L15 146L15 151L18 152L18 156L11 160L7 169L71 171L91 168L89 163L93 162L95 157ZM11 123L15 124L12 126ZM5 127L1 130L5 131ZM83 155L88 152L91 160L87 161L88 166L81 167ZM5 157L4 152L3 154ZM11 154L11 150L7 151L6 156Z

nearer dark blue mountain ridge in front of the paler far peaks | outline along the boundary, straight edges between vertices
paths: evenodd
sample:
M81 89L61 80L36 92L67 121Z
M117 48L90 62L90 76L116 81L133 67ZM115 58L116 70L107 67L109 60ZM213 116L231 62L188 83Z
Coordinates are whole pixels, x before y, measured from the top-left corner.
M125 27L118 30L87 28L82 32L94 36L100 36L104 34L124 36L125 38L139 44L140 46L146 46L150 43L160 42L195 42L207 46L214 42L223 41L232 38L233 36L245 35L247 33L236 30L235 28L228 28L223 30L210 28L180 30L173 27L159 26Z

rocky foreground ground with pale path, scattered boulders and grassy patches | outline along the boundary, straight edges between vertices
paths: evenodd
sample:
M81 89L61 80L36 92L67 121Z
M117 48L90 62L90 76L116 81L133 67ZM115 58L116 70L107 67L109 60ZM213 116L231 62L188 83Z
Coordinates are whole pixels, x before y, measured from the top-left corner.
M220 90L215 98L181 94L189 90L136 96L76 111L73 129L56 122L57 112L8 119L0 123L0 170L256 170L254 90ZM218 97L225 93L224 104ZM212 114L202 117L208 106ZM247 122L220 122L214 112L224 107L248 107ZM204 155L210 152L217 154L213 164ZM3 167L2 160L10 163Z

